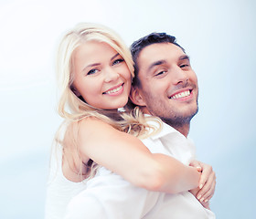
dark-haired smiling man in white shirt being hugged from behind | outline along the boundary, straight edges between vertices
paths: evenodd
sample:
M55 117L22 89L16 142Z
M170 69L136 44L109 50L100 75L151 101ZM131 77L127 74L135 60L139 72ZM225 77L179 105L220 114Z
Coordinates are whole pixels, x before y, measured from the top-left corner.
M198 96L197 76L189 57L174 36L157 33L134 42L132 54L135 78L131 100L145 114L165 122L144 144L152 152L172 155L188 164L195 151L187 134L197 113ZM101 177L89 181L88 189L69 204L67 218L215 218L192 193L149 192L104 168L99 172ZM214 172L210 177L215 182Z

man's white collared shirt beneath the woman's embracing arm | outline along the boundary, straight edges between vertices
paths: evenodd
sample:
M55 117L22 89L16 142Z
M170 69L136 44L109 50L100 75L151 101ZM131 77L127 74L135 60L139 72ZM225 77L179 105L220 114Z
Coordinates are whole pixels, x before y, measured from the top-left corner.
M171 155L185 164L195 157L193 143L166 124L160 133L143 142L153 153ZM82 218L212 219L215 215L189 192L147 191L102 167L87 183L87 189L69 203L65 219Z

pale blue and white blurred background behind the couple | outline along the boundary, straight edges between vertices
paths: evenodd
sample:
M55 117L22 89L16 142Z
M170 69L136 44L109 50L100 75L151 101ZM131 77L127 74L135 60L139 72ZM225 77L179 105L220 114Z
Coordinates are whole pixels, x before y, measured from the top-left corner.
M216 171L219 219L254 216L256 4L253 0L0 2L0 218L43 218L56 113L55 51L82 21L130 45L153 31L177 37L199 82L190 138Z

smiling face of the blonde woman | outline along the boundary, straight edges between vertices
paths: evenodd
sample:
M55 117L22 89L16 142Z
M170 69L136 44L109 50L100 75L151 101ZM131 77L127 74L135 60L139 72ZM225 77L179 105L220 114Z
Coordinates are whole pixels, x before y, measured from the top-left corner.
M123 107L131 89L131 73L123 57L106 43L89 41L73 54L73 87L91 106L114 110Z

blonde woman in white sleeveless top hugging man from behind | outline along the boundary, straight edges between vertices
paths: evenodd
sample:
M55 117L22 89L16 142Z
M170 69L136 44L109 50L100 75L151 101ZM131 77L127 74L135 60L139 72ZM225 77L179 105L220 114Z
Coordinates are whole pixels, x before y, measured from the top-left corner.
M128 101L133 61L112 30L75 26L59 45L57 71L59 115L65 120L51 157L47 218L63 218L69 200L86 188L99 165L151 191L203 187L209 172L201 176L196 167L151 153L138 138L154 133L154 127L138 110L118 111Z

